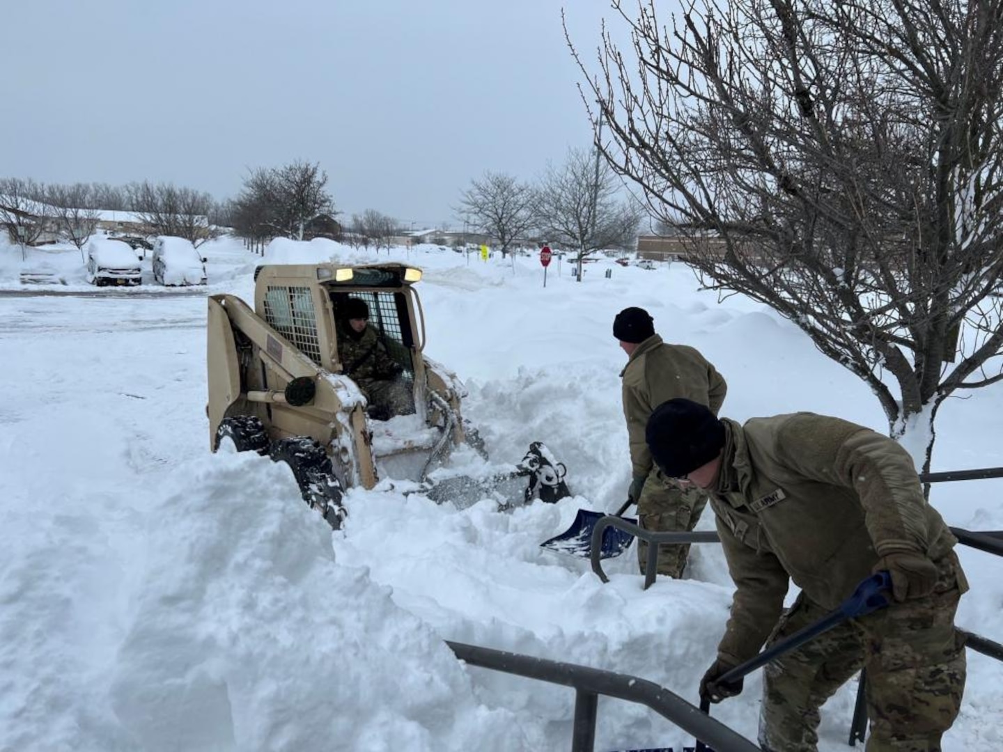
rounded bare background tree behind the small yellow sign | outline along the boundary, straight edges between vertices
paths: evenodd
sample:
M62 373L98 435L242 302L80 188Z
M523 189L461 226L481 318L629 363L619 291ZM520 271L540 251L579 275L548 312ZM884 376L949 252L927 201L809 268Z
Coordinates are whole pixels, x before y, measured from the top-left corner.
M497 240L504 259L513 243L533 228L535 200L536 192L529 183L488 170L470 180L457 211L469 218L472 230Z

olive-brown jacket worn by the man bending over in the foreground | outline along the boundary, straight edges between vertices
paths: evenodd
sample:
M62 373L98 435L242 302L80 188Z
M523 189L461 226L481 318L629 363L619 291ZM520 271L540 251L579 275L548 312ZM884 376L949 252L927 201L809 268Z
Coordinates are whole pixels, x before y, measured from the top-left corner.
M736 591L722 660L756 654L780 617L788 580L832 610L883 555L950 555L957 539L924 498L912 457L889 437L806 412L724 424L710 503ZM964 592L960 567L957 577Z

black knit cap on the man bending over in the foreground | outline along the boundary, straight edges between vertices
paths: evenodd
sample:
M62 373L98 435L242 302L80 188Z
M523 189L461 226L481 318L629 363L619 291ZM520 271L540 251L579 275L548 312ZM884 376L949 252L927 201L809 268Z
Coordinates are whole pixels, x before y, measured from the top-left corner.
M681 478L718 455L724 446L724 424L699 402L677 397L655 408L644 439L662 472Z

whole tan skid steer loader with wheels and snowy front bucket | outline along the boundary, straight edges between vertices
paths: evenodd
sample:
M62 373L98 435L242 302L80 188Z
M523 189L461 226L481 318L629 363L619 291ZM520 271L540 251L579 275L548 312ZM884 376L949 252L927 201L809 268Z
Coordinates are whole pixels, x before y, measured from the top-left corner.
M571 495L564 465L539 442L519 464L486 469L482 442L461 415L462 384L424 355L414 290L421 275L401 264L264 265L255 272L254 309L233 295L210 296L212 450L231 441L238 451L288 463L304 500L335 528L345 514L344 491L372 488L380 475L413 481L409 492L457 506L497 498L512 480L527 486L521 499L499 499L503 507ZM338 343L349 298L367 304L368 326L400 366L397 378L411 398L400 414L367 413L365 393L344 373ZM442 468L462 443L483 457L482 475Z

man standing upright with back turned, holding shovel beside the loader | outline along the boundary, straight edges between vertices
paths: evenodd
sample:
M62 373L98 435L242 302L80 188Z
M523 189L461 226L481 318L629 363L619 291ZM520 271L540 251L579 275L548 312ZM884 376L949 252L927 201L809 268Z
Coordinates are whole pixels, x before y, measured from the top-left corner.
M707 497L699 489L684 489L662 475L651 460L644 427L652 411L673 397L687 397L707 405L716 415L728 386L695 348L663 342L643 308L625 308L617 314L613 336L620 340L620 347L628 356L620 373L632 465L628 498L637 504L638 521L646 530L692 530ZM640 538L637 555L644 573L648 543ZM688 555L688 543L660 545L657 573L681 578Z

